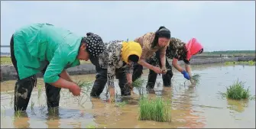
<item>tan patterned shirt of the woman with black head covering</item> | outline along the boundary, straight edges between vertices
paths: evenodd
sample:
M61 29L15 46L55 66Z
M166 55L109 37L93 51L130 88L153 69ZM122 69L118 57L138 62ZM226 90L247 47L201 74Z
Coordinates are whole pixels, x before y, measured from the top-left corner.
M150 32L134 40L135 42L141 44L141 47L142 47L140 60L147 60L151 58L151 56L153 56L157 50L160 50L160 55L163 55L163 54L165 55L167 46L169 44L167 44L166 47L155 46L154 48L152 48L151 45L153 43L154 36L155 36L155 33Z

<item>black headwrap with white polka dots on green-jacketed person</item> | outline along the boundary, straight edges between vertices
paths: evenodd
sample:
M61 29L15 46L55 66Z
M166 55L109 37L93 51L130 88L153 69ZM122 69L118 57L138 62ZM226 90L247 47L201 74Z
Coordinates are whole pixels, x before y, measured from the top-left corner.
M90 56L97 57L105 50L102 38L97 34L88 34L89 36L83 37L82 42L86 44L86 51Z

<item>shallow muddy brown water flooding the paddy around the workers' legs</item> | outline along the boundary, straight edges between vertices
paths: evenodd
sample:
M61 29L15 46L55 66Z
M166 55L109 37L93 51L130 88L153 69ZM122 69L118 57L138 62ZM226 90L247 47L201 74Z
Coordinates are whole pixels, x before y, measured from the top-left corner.
M173 70L175 71L175 70ZM255 101L232 101L222 98L218 92L225 92L225 86L236 79L245 81L255 95L255 66L196 66L193 73L201 75L195 88L183 79L180 73L174 73L171 88L159 85L149 97L162 96L172 106L170 123L138 121L138 90L131 97L119 101L128 102L109 104L105 102L105 90L101 99L89 98L83 94L73 97L66 89L60 95L60 108L47 111L43 89L34 89L27 112L14 114L13 86L15 81L1 83L1 127L255 127ZM94 79L95 76L73 76L74 79ZM147 79L147 71L144 73ZM38 85L43 82L38 79ZM186 81L186 82L185 82ZM8 91L8 92L6 92ZM120 95L120 89L116 89ZM144 91L145 92L145 91ZM89 92L88 92L89 93ZM119 98L119 97L118 97Z

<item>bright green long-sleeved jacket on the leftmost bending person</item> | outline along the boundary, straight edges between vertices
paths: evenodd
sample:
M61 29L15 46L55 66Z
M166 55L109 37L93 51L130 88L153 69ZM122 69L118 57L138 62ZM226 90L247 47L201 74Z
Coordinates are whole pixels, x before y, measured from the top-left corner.
M56 82L63 69L80 64L76 56L82 37L52 24L31 24L14 34L14 50L20 79L41 72L44 82Z

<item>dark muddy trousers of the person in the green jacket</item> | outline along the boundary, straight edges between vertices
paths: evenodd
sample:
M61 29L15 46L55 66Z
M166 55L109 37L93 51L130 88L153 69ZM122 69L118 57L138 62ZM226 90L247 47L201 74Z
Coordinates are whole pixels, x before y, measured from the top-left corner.
M13 35L11 37L10 47L11 47L11 62L15 67L15 70L18 74L17 60L15 59L15 50L14 50L14 39ZM43 74L47 66L41 71ZM28 107L29 99L31 98L31 92L34 86L37 85L36 75L29 76L25 79L20 79L15 84L15 111L25 111ZM60 88L57 88L53 85L45 83L45 90L47 95L47 107L53 108L58 107L60 102Z

